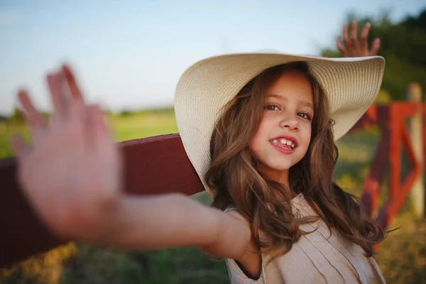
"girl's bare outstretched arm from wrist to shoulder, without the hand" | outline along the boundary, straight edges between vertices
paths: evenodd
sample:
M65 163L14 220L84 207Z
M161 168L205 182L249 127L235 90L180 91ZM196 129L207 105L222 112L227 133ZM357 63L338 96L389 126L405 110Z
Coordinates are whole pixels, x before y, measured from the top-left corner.
M109 246L162 249L197 246L207 253L239 259L249 246L248 223L180 194L124 197L106 239Z

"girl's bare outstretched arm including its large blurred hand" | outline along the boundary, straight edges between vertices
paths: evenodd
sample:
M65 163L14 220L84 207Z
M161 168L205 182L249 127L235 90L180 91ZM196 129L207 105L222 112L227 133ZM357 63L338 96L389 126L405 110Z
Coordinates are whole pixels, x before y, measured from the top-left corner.
M128 249L197 246L217 256L243 256L251 230L241 217L178 194L124 195L121 153L100 109L84 104L68 67L49 75L48 84L55 110L52 125L20 92L33 147L18 137L12 147L23 193L54 234Z

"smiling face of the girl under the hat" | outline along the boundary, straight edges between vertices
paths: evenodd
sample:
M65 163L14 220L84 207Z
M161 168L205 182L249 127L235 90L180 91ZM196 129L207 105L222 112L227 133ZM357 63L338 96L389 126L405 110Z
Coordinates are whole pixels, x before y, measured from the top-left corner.
M286 72L266 92L263 118L250 141L270 178L288 185L288 170L302 160L314 117L310 82L300 72Z

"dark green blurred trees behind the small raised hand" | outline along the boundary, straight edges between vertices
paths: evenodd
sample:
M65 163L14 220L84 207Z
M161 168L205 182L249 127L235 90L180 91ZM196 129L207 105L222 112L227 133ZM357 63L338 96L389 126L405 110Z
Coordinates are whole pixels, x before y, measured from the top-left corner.
M416 81L426 89L426 9L419 16L411 16L400 23L392 23L389 13L377 18L351 14L346 23L358 21L359 33L368 21L371 31L368 44L371 46L375 38L381 39L378 55L386 59L382 88L392 99L407 99L407 87ZM341 32L339 32L340 34ZM322 55L330 58L342 57L336 49L324 49Z

